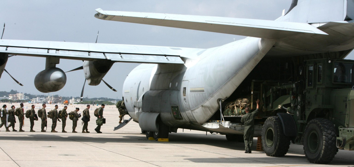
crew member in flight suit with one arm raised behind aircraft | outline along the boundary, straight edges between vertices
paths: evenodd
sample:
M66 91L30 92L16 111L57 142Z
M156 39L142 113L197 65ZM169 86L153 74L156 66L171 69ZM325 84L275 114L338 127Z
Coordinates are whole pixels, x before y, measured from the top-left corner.
M252 144L253 144L253 134L255 133L255 117L258 114L259 109L259 99L257 99L257 109L253 112L250 112L250 108L246 107L246 114L242 116L241 122L245 123L245 153L252 153Z

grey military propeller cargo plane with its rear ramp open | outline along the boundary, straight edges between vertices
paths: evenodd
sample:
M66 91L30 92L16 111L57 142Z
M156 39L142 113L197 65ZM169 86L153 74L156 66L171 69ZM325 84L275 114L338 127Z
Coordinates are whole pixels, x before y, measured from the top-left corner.
M142 63L124 81L122 94L130 117L154 138L168 138L178 128L242 135L241 124L224 121L222 107L230 98L253 94L253 80L298 81L300 76L292 74L302 62L343 59L354 48L353 0L293 0L274 21L101 8L96 12L94 17L102 20L247 36L209 49L0 40L0 75L9 55L46 57L45 70L35 78L41 92L64 87L66 75L56 67L61 58L84 61L76 70L84 70L89 85L101 83L116 62ZM256 128L255 135L261 131L262 126Z

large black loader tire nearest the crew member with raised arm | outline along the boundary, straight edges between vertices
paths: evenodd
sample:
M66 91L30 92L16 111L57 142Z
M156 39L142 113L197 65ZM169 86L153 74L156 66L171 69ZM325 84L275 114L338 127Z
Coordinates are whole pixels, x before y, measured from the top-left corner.
M289 150L290 138L284 135L278 116L265 120L262 129L262 145L267 156L284 156Z

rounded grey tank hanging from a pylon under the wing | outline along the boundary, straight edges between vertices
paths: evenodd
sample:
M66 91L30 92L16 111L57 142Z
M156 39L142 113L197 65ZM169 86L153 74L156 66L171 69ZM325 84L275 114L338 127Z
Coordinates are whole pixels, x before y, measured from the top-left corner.
M56 92L66 83L66 75L60 68L51 67L39 72L34 78L34 86L43 93Z

